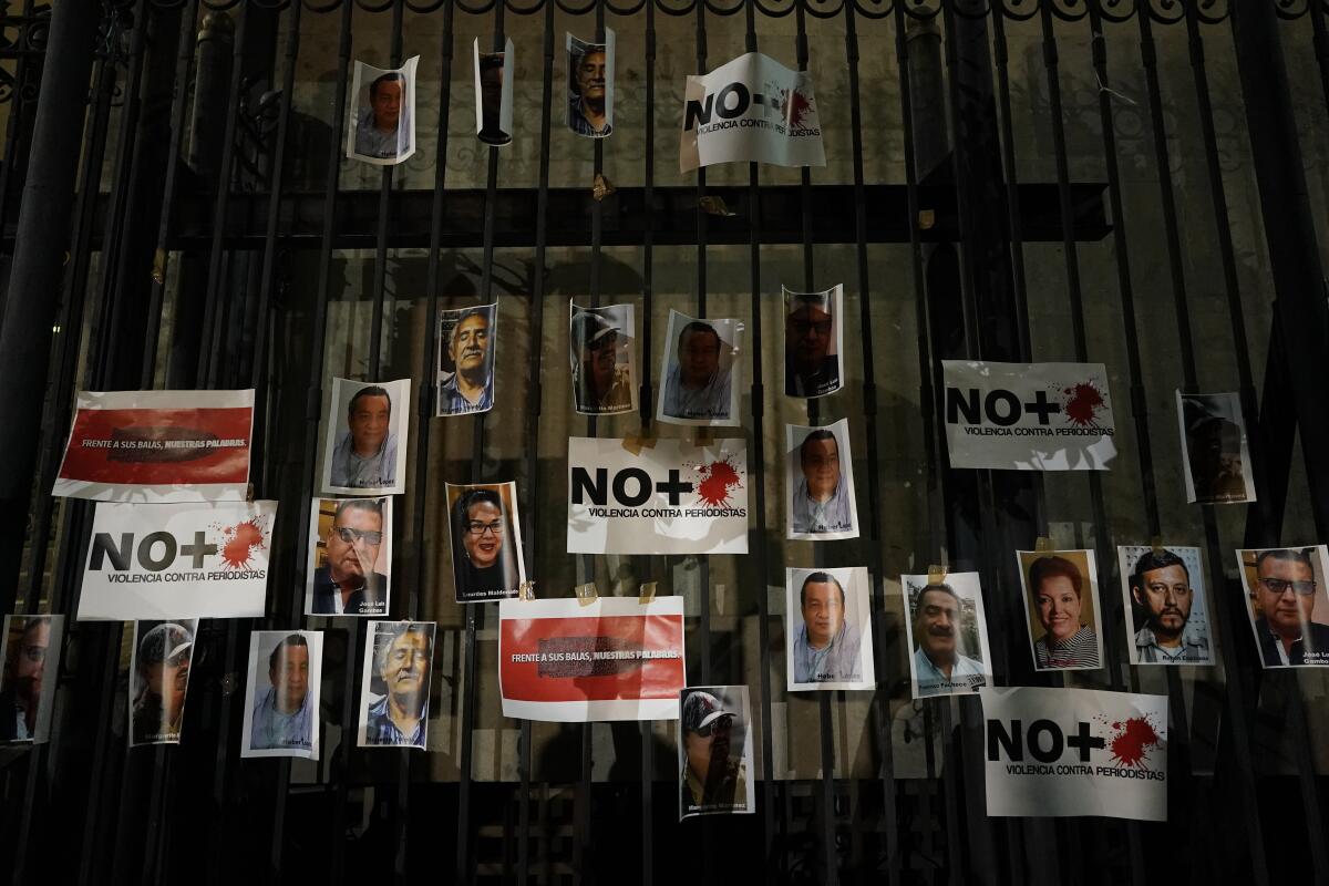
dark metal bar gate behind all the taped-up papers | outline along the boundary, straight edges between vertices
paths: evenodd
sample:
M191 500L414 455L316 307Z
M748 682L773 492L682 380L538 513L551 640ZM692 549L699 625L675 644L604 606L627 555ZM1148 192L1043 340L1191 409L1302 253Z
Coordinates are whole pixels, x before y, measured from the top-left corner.
M21 8L20 8L21 7ZM256 497L282 502L267 618L205 622L183 741L128 749L128 632L73 623L49 744L0 751L15 882L1329 881L1329 683L1263 672L1231 549L1329 541L1329 36L1320 0L35 0L0 15L0 607L72 614L90 507L47 491L77 389L256 389ZM561 40L618 33L615 134L560 126ZM516 141L473 135L470 40L516 45ZM746 50L812 70L828 165L682 175L683 77ZM343 159L351 62L421 60L417 155ZM598 183L598 189L595 187ZM779 287L843 282L852 384L766 384ZM642 317L641 414L569 408L569 296ZM433 317L497 300L501 404L433 418ZM668 308L750 323L747 557L571 557L569 434L653 432ZM763 332L767 332L763 339ZM767 344L763 344L767 341ZM954 470L940 360L1110 365L1110 474ZM302 623L332 375L412 376L396 618L439 623L431 747L354 747L364 626L328 622L323 760L241 760L251 630ZM1259 501L1184 503L1172 392L1239 391ZM1126 396L1122 396L1126 395ZM780 424L849 416L864 533L787 542ZM452 602L444 481L516 480L542 595L684 596L692 684L746 683L758 814L676 824L671 724L501 716L497 612ZM554 518L546 519L546 514ZM982 573L998 683L1011 551L1099 551L1103 671L1170 696L1170 821L989 818L977 699L909 699L897 576ZM1132 668L1116 543L1201 545L1220 665ZM1203 539L1203 543L1201 543ZM874 693L788 693L787 563L872 576ZM1061 677L1055 677L1061 684ZM347 727L351 727L348 729Z

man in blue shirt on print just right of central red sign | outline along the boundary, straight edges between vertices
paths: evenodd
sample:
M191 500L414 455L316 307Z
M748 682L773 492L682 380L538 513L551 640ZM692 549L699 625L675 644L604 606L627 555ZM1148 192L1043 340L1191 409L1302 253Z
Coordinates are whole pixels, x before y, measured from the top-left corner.
M831 573L812 573L799 590L803 627L793 638L793 681L861 680L859 628L844 618L844 587Z

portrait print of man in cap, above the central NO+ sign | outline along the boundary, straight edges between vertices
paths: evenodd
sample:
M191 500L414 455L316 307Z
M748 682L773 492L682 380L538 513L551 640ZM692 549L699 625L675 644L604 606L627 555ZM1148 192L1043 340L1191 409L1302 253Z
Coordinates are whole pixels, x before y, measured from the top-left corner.
M569 303L573 402L583 416L637 409L637 328L631 304L579 308Z

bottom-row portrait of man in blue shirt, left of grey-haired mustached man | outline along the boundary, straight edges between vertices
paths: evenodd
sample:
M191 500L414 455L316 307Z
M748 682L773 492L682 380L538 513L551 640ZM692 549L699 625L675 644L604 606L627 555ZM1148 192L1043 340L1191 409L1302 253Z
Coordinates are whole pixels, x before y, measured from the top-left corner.
M322 631L254 631L242 757L319 758Z

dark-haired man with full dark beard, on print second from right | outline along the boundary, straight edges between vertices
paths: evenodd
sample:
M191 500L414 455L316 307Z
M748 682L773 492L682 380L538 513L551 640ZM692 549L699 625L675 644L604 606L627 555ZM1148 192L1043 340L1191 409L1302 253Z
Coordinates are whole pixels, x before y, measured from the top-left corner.
M1131 573L1131 599L1144 612L1144 626L1135 632L1140 664L1208 664L1209 638L1191 623L1195 588L1180 557L1146 551Z

